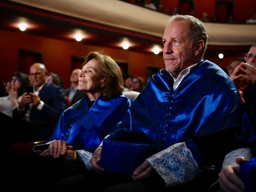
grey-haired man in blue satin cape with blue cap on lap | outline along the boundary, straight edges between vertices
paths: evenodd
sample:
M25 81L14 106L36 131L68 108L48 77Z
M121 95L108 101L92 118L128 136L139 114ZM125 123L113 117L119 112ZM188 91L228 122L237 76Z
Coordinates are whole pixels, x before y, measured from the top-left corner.
M196 179L202 163L220 164L233 148L236 127L241 124L242 101L227 74L203 60L207 40L202 21L173 15L163 35L165 70L152 76L120 124L118 131L121 127L143 131L156 147L151 151L154 155L136 166L131 176L104 171L118 168L117 164L122 170L126 164L136 163L130 156L122 163L125 154L133 152L134 143L127 140L134 137L118 136L116 131L95 150L93 170L62 180L52 191L90 186L93 191L164 191L166 187L173 191L173 186Z

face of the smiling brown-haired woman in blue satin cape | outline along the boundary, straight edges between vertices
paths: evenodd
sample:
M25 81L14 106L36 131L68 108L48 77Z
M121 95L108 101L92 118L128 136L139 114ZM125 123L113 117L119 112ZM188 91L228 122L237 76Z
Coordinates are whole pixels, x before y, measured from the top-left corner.
M99 62L95 59L88 61L79 74L78 90L89 93L101 93L103 88L103 77L102 71L100 70Z

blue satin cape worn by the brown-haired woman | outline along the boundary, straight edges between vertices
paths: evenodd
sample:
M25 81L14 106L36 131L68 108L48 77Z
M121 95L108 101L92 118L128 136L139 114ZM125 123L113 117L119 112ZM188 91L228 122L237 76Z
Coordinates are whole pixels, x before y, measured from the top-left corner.
M65 140L74 150L94 152L104 137L115 130L130 106L131 100L124 94L108 100L100 95L92 108L90 99L83 97L61 113L51 140Z

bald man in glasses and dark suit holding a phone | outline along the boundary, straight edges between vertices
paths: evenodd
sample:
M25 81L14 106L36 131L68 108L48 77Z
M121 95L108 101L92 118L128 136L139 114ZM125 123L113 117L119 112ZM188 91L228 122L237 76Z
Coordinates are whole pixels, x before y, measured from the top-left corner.
M47 82L46 76L44 64L31 65L29 77L33 84L33 93L24 93L19 106L13 109L13 118L29 122L30 141L47 140L61 112L67 108L62 88Z

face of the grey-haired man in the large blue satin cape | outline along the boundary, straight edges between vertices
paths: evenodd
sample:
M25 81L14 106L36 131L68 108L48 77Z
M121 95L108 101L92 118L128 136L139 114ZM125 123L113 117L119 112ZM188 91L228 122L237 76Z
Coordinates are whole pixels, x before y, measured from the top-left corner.
M163 58L166 70L177 77L184 68L195 64L195 48L189 38L189 24L172 21L166 26L163 35Z

